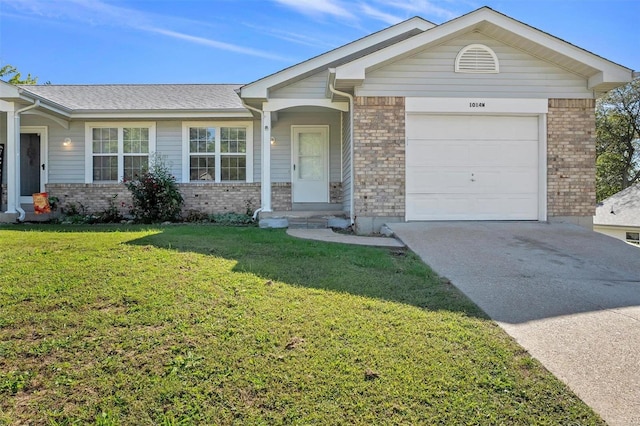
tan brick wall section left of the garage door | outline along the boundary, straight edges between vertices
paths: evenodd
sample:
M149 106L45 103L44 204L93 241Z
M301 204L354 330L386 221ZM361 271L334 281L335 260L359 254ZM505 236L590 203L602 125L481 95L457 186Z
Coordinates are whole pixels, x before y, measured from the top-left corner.
M404 216L404 98L356 97L353 122L356 215Z

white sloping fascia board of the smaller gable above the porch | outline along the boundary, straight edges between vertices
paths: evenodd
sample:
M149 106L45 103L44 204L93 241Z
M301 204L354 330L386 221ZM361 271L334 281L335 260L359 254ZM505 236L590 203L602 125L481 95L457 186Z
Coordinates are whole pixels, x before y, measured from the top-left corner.
M270 87L281 84L287 80L294 79L300 75L311 73L345 56L360 52L361 50L367 49L371 46L381 43L387 39L404 34L408 31L414 29L426 31L433 27L435 27L435 24L419 17L408 19L406 21L400 22L399 24L373 33L369 36L363 37L360 40L356 40L354 42L331 50L327 53L316 56L315 58L301 62L297 65L293 65L275 74L271 74L270 76L267 76L263 79L257 80L253 83L249 83L246 86L240 88L240 97L267 99Z

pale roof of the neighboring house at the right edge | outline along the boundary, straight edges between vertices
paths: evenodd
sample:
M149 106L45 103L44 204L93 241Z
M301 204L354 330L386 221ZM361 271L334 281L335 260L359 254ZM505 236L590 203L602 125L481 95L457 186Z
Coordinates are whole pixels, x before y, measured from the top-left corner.
M640 183L598 203L593 224L640 227Z

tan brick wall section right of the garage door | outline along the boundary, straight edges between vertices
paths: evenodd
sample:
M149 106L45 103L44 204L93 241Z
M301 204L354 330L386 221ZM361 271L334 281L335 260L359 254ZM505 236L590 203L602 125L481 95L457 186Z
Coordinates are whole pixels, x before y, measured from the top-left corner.
M595 100L549 99L549 217L595 214Z

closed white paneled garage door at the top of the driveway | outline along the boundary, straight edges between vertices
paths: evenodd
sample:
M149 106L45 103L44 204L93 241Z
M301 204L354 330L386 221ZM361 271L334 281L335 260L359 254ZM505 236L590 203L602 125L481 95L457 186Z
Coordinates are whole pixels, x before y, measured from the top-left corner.
M537 220L538 117L407 115L407 220Z

